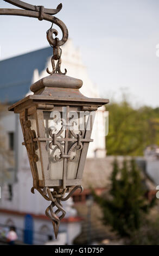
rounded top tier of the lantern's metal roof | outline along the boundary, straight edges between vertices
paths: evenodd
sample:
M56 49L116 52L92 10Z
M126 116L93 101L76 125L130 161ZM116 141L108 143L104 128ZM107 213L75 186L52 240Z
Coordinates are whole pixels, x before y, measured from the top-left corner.
M31 92L36 93L44 87L79 89L82 87L82 83L82 80L74 77L61 74L52 74L43 77L41 80L32 84L30 90Z

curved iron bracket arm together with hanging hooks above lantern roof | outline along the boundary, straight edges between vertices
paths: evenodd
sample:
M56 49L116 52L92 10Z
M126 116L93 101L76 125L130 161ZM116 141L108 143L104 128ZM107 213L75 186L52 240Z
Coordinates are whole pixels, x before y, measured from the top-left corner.
M20 0L4 0L5 2L8 2L10 4L13 4L17 7L20 7L21 9L0 9L0 15L16 15L16 16L26 16L26 17L34 17L39 19L40 21L46 20L55 23L58 27L60 27L62 31L62 39L59 40L59 38L53 38L53 34L55 36L58 35L58 31L56 29L53 29L52 27L47 31L47 40L50 44L50 46L53 47L53 56L52 56L52 71L49 71L47 68L48 74L52 75L54 73L59 73L61 75L66 75L67 70L65 69L65 72L61 72L61 54L62 50L60 48L61 45L65 44L65 42L68 39L68 30L65 24L59 20L58 18L52 16L54 14L59 13L59 11L62 9L62 4L59 4L56 9L46 9L42 5L36 6L32 4L28 4L25 2L22 2ZM55 60L58 60L56 66L55 66Z

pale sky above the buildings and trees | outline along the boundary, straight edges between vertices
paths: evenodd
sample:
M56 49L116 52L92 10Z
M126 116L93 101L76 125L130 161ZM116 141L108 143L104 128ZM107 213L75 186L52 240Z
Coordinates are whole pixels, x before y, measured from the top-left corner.
M53 9L62 3L55 16L65 22L102 97L120 100L124 88L133 105L159 107L158 0L26 2ZM0 0L0 8L15 7ZM50 22L34 18L0 16L0 60L49 46L49 27Z

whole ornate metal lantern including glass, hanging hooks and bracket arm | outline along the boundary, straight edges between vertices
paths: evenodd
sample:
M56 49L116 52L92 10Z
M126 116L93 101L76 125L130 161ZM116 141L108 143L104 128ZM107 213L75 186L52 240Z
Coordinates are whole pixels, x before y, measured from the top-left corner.
M26 3L23 5L22 1L17 0L6 2L25 7L27 10L34 7ZM61 5L59 6L61 8ZM0 9L0 15L6 14L5 9L2 10ZM15 13L16 10L12 15L22 15ZM20 114L23 145L27 148L33 175L31 192L34 193L36 189L46 200L51 201L46 209L46 215L52 220L57 236L60 220L66 214L61 201L67 200L77 188L82 191L82 172L88 145L93 141L91 132L95 112L109 100L85 97L79 92L82 81L66 76L66 70L62 74L60 45L66 42L68 31L63 22L48 13L49 9L34 7L34 11L31 9L23 13L23 16L40 15L40 19L43 17L51 20L61 28L61 40L53 38L53 34L58 34L55 29L50 28L47 32L47 39L53 47L53 71L47 69L50 75L31 85L30 90L34 94L14 103L9 107L9 111ZM55 10L54 13L53 10L50 13L54 14ZM11 14L8 9L7 14ZM65 193L68 194L65 196Z

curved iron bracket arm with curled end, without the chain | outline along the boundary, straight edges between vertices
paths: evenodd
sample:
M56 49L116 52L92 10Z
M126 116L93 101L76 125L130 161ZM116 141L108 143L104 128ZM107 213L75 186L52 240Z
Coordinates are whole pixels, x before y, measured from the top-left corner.
M59 4L56 9L47 9L43 6L36 6L32 4L25 3L20 0L4 0L5 2L8 2L10 4L13 4L17 7L20 7L21 9L0 9L0 15L15 15L15 16L25 16L25 17L33 17L37 18L39 20L46 20L50 21L52 23L55 23L58 27L60 27L62 31L62 39L59 40L59 46L65 44L65 42L68 39L68 29L66 25L59 20L58 18L52 16L56 13L59 13L59 11L62 9L62 4ZM58 35L58 33L56 34ZM49 41L49 44L52 46L56 46L56 40L53 38L53 36L47 36L47 39Z

